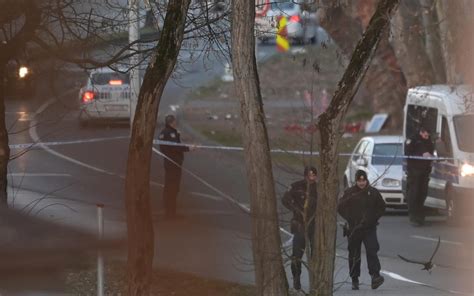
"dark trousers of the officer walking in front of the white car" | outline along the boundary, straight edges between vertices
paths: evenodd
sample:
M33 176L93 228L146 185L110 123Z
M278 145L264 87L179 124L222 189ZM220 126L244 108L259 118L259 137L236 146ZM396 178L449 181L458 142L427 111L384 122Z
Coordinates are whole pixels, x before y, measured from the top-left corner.
M379 275L380 261L379 257L377 256L377 252L379 251L377 229L374 227L369 230L359 231L359 233L354 233L348 238L349 274L351 278L358 278L360 276L360 253L362 243L364 243L369 274L371 276Z

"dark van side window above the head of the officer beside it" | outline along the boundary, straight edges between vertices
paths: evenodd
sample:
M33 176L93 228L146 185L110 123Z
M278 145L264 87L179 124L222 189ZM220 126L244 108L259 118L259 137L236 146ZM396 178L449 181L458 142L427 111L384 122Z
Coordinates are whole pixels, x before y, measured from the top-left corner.
M437 118L438 110L436 108L408 105L405 130L406 138L410 139L416 136L422 126L431 132L436 131Z

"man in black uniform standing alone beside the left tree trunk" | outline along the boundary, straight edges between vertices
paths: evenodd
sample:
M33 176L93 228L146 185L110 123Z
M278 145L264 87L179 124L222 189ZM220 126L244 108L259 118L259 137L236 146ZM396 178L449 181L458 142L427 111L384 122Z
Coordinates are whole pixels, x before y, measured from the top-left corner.
M165 118L165 128L160 133L160 140L174 143L181 143L180 134L176 129L177 122L174 115L167 115ZM184 152L190 151L187 146L160 144L160 151L166 157L163 159L165 169L165 185L163 188L163 201L165 214L168 218L176 216L176 197L178 196L181 183L181 166L184 160Z

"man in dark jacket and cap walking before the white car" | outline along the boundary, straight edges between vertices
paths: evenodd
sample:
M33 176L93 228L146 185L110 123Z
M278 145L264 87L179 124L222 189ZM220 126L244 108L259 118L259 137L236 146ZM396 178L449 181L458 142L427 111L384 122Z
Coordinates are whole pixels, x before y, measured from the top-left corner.
M352 289L359 290L360 252L364 243L367 253L367 265L372 277L372 289L383 284L380 275L380 261L377 256L379 242L377 239L378 220L385 212L385 202L380 192L369 185L367 173L358 170L355 175L356 185L344 192L337 208L338 213L348 223L347 247L349 250L349 274Z

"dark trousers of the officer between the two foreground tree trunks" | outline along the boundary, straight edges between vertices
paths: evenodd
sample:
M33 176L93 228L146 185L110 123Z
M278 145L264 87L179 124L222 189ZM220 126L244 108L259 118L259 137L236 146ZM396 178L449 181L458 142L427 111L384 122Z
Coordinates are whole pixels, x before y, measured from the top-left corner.
M301 275L301 260L303 258L304 251L306 249L306 237L304 233L304 227L301 222L292 221L292 233L293 233L293 250L291 254L291 274L293 277L299 277ZM296 226L294 224L297 224ZM313 250L313 233L314 223L311 223L308 227L308 237L310 239L310 256Z

